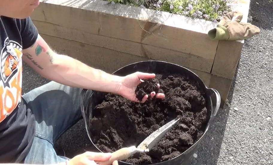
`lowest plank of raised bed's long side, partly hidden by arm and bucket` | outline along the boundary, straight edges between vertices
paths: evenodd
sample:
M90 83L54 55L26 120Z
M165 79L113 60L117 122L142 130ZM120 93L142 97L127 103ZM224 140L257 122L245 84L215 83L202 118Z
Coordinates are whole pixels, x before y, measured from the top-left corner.
M139 57L111 49L98 46L92 46L77 41L62 39L45 34L41 34L49 46L59 54L68 55L83 63L113 73L125 65L138 61L151 60L145 57ZM154 60L154 59L153 59ZM198 75L208 87L210 84L210 73L202 72L196 69L187 68Z

